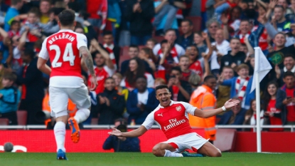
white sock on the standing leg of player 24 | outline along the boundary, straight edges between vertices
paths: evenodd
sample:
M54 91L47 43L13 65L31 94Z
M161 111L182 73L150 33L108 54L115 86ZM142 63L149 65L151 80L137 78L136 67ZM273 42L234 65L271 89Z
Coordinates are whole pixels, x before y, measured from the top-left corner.
M59 121L55 124L54 135L58 146L57 151L61 149L65 152L65 123Z

